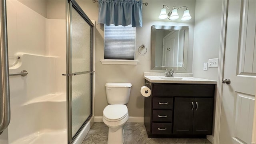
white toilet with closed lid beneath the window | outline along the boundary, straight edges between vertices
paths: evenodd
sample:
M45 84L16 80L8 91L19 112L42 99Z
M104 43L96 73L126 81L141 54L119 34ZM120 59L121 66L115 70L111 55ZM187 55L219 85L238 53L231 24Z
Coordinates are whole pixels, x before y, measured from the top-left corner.
M125 104L129 101L132 84L106 83L105 87L109 105L103 110L103 122L108 126L108 144L123 144L123 125L129 118Z

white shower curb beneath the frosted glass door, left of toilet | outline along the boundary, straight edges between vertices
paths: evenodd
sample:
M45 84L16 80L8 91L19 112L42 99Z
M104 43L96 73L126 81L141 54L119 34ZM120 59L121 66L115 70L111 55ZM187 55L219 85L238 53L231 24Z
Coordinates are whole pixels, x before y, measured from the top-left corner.
M78 134L78 136L76 137L74 142L72 142L72 144L82 144L82 142L84 141L84 138L86 137L86 135L88 134L90 128L92 127L92 125L94 123L93 117L94 116L92 116L92 118L90 118L90 120L87 122L87 124L84 126L84 128L82 128L81 132Z

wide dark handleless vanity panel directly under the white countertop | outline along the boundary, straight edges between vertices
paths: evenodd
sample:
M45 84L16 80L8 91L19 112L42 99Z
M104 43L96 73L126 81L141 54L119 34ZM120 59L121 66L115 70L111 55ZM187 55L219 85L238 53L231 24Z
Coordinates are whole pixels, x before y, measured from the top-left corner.
M214 97L214 84L154 84L153 96Z

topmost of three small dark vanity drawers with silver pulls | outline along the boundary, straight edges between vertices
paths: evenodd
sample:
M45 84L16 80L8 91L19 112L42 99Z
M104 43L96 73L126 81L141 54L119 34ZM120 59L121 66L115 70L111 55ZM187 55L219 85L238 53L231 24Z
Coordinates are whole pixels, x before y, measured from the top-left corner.
M153 109L172 109L173 98L153 98Z

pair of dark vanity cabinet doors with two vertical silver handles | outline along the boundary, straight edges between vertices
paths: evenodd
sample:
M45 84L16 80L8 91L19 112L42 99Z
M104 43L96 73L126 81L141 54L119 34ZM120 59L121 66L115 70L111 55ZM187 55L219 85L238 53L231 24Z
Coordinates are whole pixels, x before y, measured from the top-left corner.
M174 134L212 134L213 98L175 98Z

